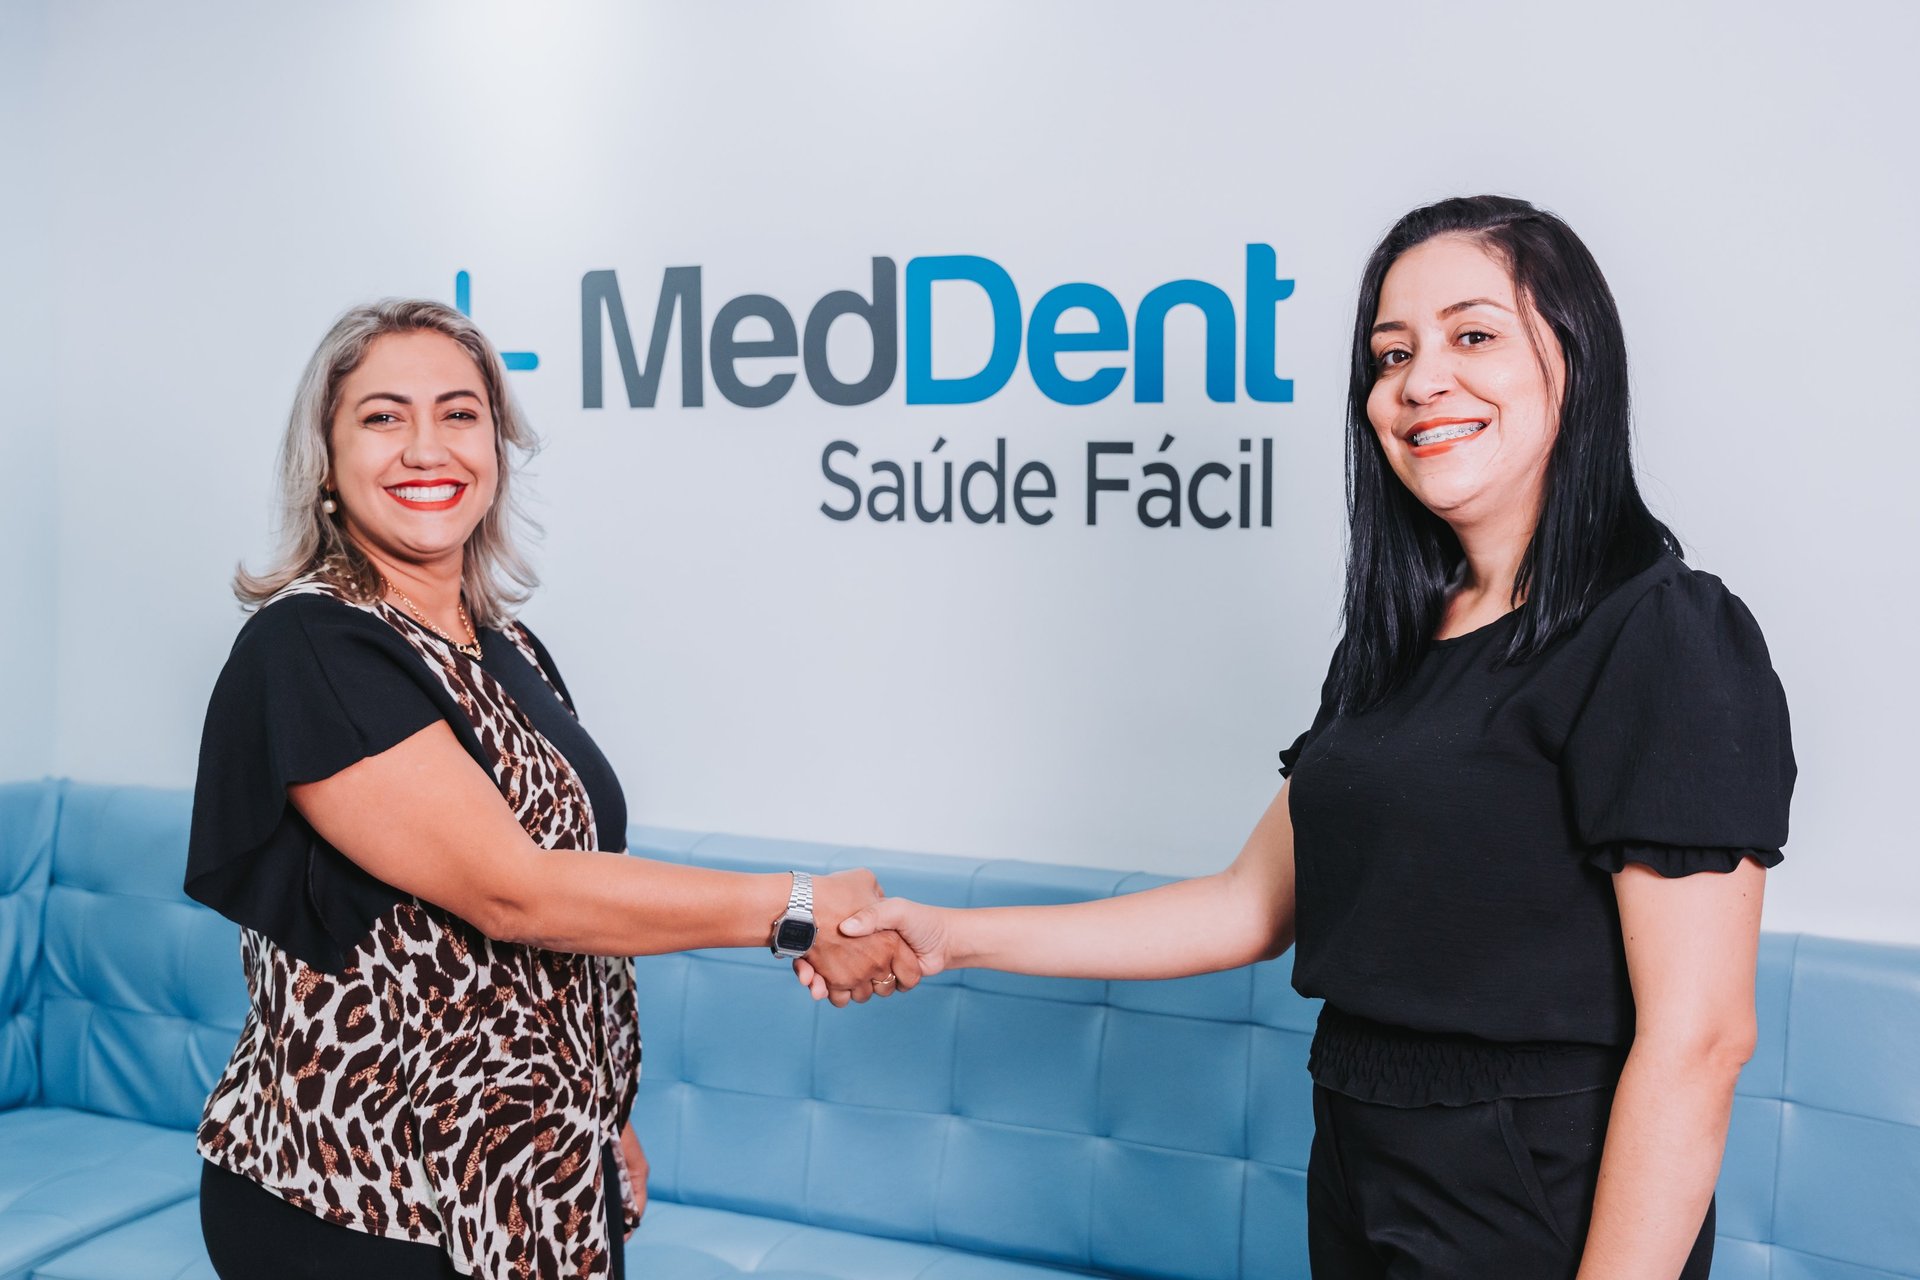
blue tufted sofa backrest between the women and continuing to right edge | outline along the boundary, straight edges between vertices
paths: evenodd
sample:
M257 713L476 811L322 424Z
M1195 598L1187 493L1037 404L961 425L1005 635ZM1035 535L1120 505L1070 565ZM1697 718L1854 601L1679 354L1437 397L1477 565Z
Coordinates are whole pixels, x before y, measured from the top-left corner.
M743 871L870 865L945 906L1164 877L632 831ZM641 958L653 1190L1127 1276L1306 1280L1308 1042L1288 958L1175 983L941 975L795 1002L764 952ZM1920 948L1768 933L1716 1280L1920 1278Z

